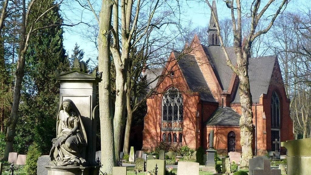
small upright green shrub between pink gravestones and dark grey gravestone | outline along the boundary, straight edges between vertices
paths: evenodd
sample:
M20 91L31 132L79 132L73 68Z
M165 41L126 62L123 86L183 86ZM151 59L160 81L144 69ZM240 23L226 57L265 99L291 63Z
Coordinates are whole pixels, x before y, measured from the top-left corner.
M28 148L27 158L26 158L26 173L27 175L37 174L37 161L41 156L41 150L38 144L32 144Z

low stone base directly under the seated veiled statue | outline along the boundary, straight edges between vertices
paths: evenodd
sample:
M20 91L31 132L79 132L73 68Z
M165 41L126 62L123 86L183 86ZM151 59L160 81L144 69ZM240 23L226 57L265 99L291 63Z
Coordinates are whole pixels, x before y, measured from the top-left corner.
M98 175L100 165L88 167L52 166L47 165L48 175Z

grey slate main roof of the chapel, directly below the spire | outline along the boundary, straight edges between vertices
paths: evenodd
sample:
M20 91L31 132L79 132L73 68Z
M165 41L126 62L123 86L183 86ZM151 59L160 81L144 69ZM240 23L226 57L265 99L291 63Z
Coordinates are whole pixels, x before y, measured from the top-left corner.
M205 45L202 45L202 47L209 59L209 62L213 67L214 73L216 75L216 78L218 79L221 89L228 90L233 71L229 66L227 66L224 51L220 46L210 45L207 47ZM226 50L232 61L232 64L235 65L236 57L234 54L234 48L227 47Z

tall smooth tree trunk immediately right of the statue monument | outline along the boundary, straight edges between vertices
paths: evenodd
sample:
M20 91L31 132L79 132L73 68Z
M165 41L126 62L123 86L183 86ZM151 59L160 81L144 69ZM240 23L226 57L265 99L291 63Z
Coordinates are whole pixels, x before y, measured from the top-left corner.
M101 171L107 174L112 174L112 167L115 166L109 49L112 7L111 0L102 0L98 36L98 68L99 72L103 72L99 83Z

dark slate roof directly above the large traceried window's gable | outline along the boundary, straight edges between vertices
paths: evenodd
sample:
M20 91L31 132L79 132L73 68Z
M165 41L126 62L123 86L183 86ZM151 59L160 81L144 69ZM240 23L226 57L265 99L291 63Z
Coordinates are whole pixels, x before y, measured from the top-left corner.
M203 77L195 57L189 54L180 55L180 53L176 51L174 54L176 59L178 59L177 63L190 90L193 92L199 92L202 101L217 102Z

